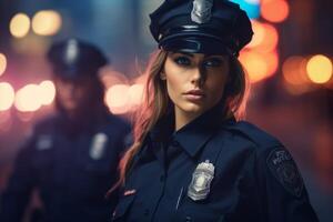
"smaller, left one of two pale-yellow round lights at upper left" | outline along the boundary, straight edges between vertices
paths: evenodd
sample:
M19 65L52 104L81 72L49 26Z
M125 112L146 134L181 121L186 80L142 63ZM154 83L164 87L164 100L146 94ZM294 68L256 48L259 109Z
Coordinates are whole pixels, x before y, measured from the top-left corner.
M17 13L10 20L9 30L16 38L23 38L28 34L30 29L30 19L24 13Z

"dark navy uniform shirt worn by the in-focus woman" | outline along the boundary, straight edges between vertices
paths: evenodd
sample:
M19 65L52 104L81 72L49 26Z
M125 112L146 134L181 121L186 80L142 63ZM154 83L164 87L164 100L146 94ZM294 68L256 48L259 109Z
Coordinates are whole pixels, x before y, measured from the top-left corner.
M150 131L113 221L317 221L287 150L248 122L216 117L211 110L175 133L161 120ZM211 182L198 170L204 162Z

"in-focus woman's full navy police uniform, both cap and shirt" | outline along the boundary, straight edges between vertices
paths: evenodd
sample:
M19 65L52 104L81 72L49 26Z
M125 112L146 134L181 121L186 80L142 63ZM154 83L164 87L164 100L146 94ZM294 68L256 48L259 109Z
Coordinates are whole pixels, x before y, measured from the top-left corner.
M222 0L167 0L150 29L165 51L230 57L253 34L245 12ZM287 150L222 117L218 104L174 133L174 117L161 119L132 161L113 221L317 221Z

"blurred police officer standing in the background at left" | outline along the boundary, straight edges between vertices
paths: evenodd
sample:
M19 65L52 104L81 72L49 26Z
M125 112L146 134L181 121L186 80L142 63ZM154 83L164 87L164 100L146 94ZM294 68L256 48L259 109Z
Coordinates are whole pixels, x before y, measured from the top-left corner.
M16 160L1 196L0 221L22 221L32 191L42 202L39 221L108 221L117 195L117 165L130 127L109 113L98 71L107 59L78 39L54 43L48 60L53 69L58 113L36 125Z

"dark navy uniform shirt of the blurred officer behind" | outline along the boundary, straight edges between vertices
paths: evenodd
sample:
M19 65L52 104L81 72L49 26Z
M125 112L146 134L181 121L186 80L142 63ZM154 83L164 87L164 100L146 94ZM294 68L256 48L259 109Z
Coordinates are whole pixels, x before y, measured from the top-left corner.
M109 221L118 196L105 199L118 180L128 123L105 115L73 127L58 115L38 124L20 150L2 195L1 222L19 222L38 188L47 222Z

